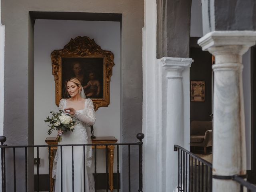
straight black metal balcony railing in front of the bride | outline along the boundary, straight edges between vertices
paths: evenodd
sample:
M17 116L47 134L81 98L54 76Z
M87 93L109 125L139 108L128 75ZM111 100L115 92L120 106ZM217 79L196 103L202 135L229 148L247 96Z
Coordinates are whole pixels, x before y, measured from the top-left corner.
M138 183L139 183L139 192L143 192L142 191L142 139L144 138L144 134L139 133L137 134L137 138L139 140L139 142L136 143L111 143L111 144L70 144L70 145L28 145L28 146L7 146L6 144L4 144L4 142L6 142L6 138L4 136L0 136L0 148L1 148L1 176L2 176L2 192L6 192L6 191L16 191L16 188L18 188L18 191L28 191L29 188L29 184L31 182L28 181L29 180L29 176L28 176L28 167L31 167L31 162L29 163L29 159L31 160L31 157L29 156L29 151L31 152L31 149L36 149L36 157L37 159L39 158L39 148L48 148L48 179L49 179L49 186L48 186L48 191L51 191L51 186L50 186L50 173L51 173L51 166L50 166L50 160L51 160L51 147L60 147L60 161L61 161L61 191L63 190L62 187L62 148L66 147L66 146L71 146L72 147L72 192L74 192L74 148L78 147L78 146L83 146L83 162L84 162L84 167L86 164L86 156L85 156L85 147L86 146L94 146L94 188L95 188L95 192L96 192L96 184L97 182L97 146L105 146L106 148L106 192L108 192L109 189L109 184L108 184L108 146L116 146L117 147L117 191L119 192L120 190L120 179L119 179L119 149L120 146L128 146L129 151L128 151L128 159L129 159L129 164L128 164L128 180L129 180L129 184L128 184L128 191L131 191L131 180L130 180L130 176L131 176L131 164L130 164L130 158L131 158L131 153L130 153L130 147L131 146L138 146ZM33 153L31 153L33 154ZM32 156L32 159L34 159L34 156ZM34 163L34 162L33 162ZM19 166L17 168L17 166ZM22 166L22 169L21 167ZM33 165L34 166L34 165ZM24 167L24 169L23 169ZM134 169L134 165L132 166L132 168ZM18 172L16 172L16 170L19 170ZM22 170L22 171L20 171ZM8 172L6 172L8 171ZM13 174L8 174L10 172L13 172ZM6 177L6 174L8 174L8 177ZM83 170L83 174L85 174L85 170ZM124 174L124 173L123 173ZM33 169L33 175L34 175L34 169ZM132 174L134 176L134 174ZM12 177L12 178L11 178ZM22 178L20 180L20 178ZM39 192L39 185L40 185L40 179L39 179L39 164L36 164L36 180L37 180L37 191ZM84 175L85 178L85 175ZM16 181L18 180L18 184L16 183ZM100 182L104 182L104 181L100 181ZM21 184L21 186L19 186L19 184ZM85 184L85 182L84 182ZM24 189L22 189L24 187ZM29 190L30 191L30 190ZM85 188L84 188L85 191Z

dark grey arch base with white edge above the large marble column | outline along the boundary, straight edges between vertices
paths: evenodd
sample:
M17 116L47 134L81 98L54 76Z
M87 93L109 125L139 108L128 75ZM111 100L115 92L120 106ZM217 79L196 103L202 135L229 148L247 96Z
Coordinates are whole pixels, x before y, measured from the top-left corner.
M202 0L204 35L210 31L256 30L255 0Z

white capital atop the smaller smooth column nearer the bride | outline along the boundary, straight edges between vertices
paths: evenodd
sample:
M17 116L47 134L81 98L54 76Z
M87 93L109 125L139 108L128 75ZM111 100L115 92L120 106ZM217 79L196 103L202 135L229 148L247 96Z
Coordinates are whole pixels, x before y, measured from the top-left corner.
M191 58L177 58L177 57L162 57L160 63L167 71L166 77L180 79L182 78L182 71L186 67L190 67L193 60Z

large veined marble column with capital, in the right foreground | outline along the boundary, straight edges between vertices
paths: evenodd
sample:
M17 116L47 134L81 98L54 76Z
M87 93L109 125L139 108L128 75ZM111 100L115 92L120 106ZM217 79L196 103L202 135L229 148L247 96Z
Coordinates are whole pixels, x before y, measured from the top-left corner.
M215 56L213 177L246 174L242 55L254 45L256 32L214 31L198 40ZM213 192L239 192L233 180L213 179Z

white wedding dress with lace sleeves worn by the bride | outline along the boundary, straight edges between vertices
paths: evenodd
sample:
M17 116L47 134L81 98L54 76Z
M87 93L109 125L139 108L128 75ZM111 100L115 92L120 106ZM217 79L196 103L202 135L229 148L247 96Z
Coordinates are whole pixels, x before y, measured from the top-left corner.
M59 109L67 108L65 99L60 100ZM90 125L95 122L94 106L92 100L86 99L84 109L76 110L76 123L74 131L63 132L62 142L59 144L88 144L91 143ZM94 178L88 173L88 169L92 164L92 147L74 146L74 192L94 191ZM85 165L84 165L85 156ZM84 177L85 176L85 177ZM52 178L55 179L55 192L61 192L61 152L60 147L54 158L52 169ZM85 181L85 182L84 182ZM72 192L72 147L62 146L62 191Z

